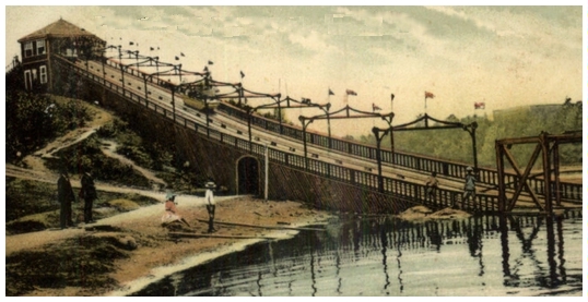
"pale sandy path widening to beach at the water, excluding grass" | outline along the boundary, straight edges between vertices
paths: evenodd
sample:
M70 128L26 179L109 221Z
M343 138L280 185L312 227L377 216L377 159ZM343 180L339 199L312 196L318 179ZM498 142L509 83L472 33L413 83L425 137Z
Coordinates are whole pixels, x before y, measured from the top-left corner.
M163 193L146 191L163 200ZM184 231L192 234L207 232L207 224L199 220L207 217L204 198L200 196L179 195L179 215L191 225L191 230ZM257 226L303 227L324 225L330 216L304 207L296 202L263 202L248 196L223 196L216 198L216 217L226 222L239 222ZM127 251L128 257L118 258L107 273L117 281L116 287L52 288L36 286L27 295L33 297L81 297L81 295L114 295L121 297L140 290L144 286L161 280L175 271L203 264L228 253L240 251L246 246L267 240L267 238L291 238L296 230L260 229L247 227L219 226L215 235L224 238L180 238L173 239L168 230L161 226L164 213L163 204L141 207L136 210L99 219L96 224L64 230L45 230L24 234L5 237L5 255L15 255L23 251L36 251L51 255L59 253L59 246L68 239L79 238L117 238L131 239L137 242L137 249ZM114 228L119 231L101 231L99 227ZM238 239L249 238L249 239ZM258 238L258 239L256 239Z

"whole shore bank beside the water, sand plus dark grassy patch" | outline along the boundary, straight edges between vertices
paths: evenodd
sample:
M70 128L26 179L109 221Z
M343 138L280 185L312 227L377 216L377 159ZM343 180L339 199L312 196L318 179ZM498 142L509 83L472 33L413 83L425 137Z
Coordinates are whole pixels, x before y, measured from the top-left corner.
M178 214L191 225L189 230L184 228L183 232L205 234L208 224L199 221L200 218L208 217L204 197L178 195L176 200L178 201ZM49 230L51 235L47 235L47 230L45 230L7 237L13 256L33 252L47 255L43 256L46 257L45 262L47 263L64 262L63 265L72 265L81 271L92 271L93 268L87 265L96 261L110 267L107 271L93 273L89 277L78 276L78 278L93 278L94 280L111 280L107 283L84 283L79 280L78 282L62 283L62 286L58 283L47 286L30 280L33 289L17 294L17 297L129 295L174 273L244 251L264 240L283 240L299 233L299 230L287 228L325 225L328 219L333 217L331 213L313 209L302 202L264 202L243 195L217 196L215 218L219 221L251 226L219 224L215 225L217 231L214 234L220 238L174 238L170 232L175 230L161 225L163 213L164 205L161 203L103 218L89 226ZM252 226L275 226L279 229ZM247 237L258 238L247 239ZM81 257L56 258L58 255L72 253L78 249L90 249L91 253ZM119 256L113 257L108 254L96 256L93 254L105 249L106 251L115 250L114 253ZM101 262L101 259L104 261ZM28 262L22 262L17 265L17 268L12 268L11 271L14 269L17 269L16 271L35 270L35 267L31 266ZM50 278L50 276L59 276L58 274L63 273L50 270L45 271L44 276ZM82 282L80 283L80 281ZM17 280L8 279L7 287L14 290L17 282Z

